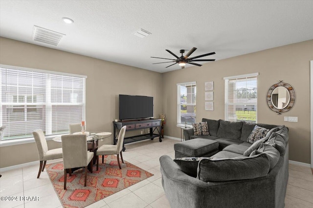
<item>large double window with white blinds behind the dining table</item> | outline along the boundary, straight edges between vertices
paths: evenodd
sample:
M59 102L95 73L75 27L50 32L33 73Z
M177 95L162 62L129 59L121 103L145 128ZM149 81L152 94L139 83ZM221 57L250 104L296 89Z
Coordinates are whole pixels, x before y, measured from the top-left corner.
M2 140L68 132L85 120L86 77L14 66L0 67L0 126Z

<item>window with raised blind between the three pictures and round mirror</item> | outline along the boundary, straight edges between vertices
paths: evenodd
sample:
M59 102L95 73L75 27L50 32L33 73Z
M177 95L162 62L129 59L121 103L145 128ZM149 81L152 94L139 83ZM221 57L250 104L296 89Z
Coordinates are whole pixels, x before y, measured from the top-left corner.
M225 77L225 121L257 122L257 75Z

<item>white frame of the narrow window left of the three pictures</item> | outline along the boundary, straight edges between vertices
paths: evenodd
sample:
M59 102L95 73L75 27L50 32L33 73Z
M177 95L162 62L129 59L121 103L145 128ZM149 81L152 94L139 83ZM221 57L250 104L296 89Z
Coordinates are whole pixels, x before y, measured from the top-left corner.
M181 118L181 115L180 115L180 107L182 104L180 104L180 86L186 86L186 85L195 85L195 103L192 104L192 103L186 103L186 104L183 104L183 105L192 105L194 107L197 107L197 83L196 82L188 82L188 83L178 83L177 84L177 126L178 127L190 127L191 124L185 124L185 123L181 123L180 121L180 118ZM197 113L195 114L195 121L196 121L196 116L197 116Z

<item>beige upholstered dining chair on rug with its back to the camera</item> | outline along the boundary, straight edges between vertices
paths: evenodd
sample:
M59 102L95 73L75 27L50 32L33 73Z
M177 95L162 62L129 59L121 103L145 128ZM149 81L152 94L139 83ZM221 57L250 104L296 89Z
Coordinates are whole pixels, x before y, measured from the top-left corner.
M67 170L71 168L85 167L85 187L87 184L87 167L90 164L92 173L93 152L87 150L87 137L84 134L63 135L63 166L64 166L64 189L67 189Z

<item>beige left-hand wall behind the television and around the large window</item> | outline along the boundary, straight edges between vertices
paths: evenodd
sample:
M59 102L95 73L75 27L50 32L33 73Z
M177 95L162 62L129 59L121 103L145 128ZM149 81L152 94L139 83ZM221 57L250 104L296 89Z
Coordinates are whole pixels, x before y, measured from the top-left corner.
M155 117L162 112L160 73L6 38L0 38L0 63L88 76L86 125L92 132L113 131L119 94L152 96ZM106 143L112 144L112 136ZM48 146L61 147L54 141L48 141ZM37 160L35 143L0 147L0 167Z

